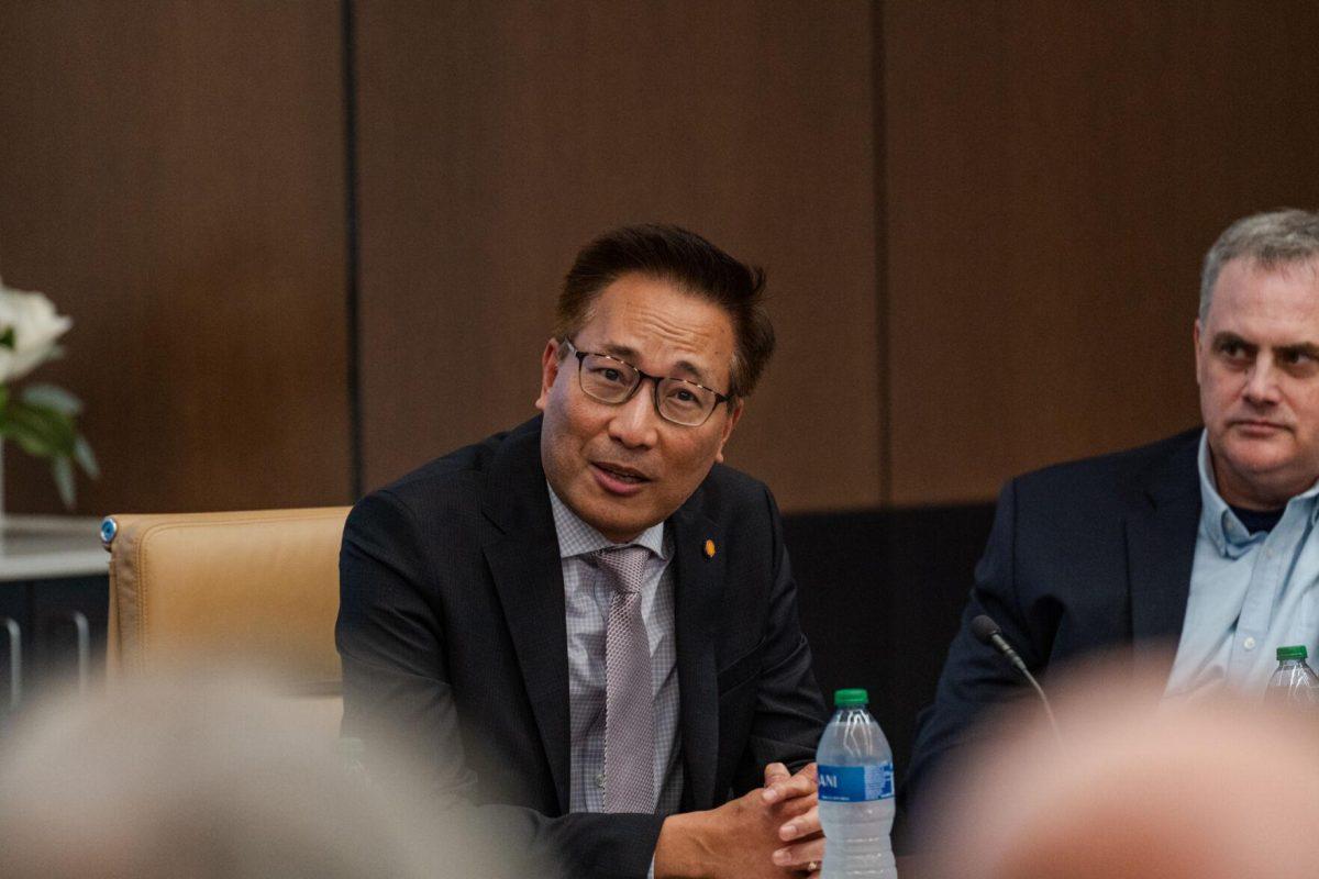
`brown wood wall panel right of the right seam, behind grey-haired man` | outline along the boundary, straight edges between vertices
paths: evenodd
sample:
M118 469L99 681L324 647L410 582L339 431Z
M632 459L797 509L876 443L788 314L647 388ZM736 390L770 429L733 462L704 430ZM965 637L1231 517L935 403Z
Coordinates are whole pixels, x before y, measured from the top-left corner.
M1319 208L1319 5L884 4L896 505L1199 420L1199 262Z

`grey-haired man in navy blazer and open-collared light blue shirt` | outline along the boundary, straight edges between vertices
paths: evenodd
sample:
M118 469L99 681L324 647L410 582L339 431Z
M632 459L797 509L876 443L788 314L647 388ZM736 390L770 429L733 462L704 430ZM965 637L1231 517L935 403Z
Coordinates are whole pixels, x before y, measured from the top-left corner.
M1000 494L921 717L904 795L913 829L930 776L981 712L1026 692L972 635L979 614L1037 676L1116 650L1146 680L1167 680L1173 700L1260 693L1275 647L1319 648L1319 213L1249 216L1219 237L1194 341L1203 430L1030 473Z

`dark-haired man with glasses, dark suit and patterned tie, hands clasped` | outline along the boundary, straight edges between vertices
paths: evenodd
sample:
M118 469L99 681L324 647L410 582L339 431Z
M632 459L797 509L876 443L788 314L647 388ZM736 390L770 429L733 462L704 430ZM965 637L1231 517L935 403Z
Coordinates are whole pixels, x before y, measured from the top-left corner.
M773 349L761 289L675 227L594 241L542 415L348 518L346 734L401 739L567 875L818 870L824 706L778 511L719 464Z

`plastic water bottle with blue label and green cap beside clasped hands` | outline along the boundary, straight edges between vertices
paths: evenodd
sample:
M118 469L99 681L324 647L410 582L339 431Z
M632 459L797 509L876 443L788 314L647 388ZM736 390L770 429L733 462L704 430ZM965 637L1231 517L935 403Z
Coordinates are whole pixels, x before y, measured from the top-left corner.
M893 751L865 710L864 689L834 693L834 718L820 737L822 879L896 879L893 863Z

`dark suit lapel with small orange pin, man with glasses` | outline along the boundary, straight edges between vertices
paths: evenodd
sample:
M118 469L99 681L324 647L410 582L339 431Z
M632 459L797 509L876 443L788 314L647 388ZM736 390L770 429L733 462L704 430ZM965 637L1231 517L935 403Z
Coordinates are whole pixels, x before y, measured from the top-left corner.
M719 742L719 683L715 635L724 590L727 552L723 531L700 511L703 489L673 517L674 639L686 801L708 809L715 800ZM707 540L715 553L706 552Z

